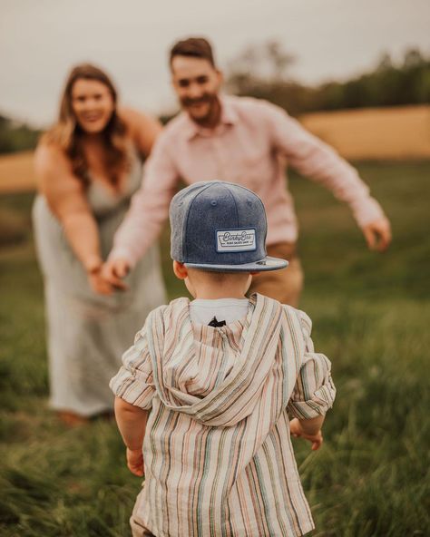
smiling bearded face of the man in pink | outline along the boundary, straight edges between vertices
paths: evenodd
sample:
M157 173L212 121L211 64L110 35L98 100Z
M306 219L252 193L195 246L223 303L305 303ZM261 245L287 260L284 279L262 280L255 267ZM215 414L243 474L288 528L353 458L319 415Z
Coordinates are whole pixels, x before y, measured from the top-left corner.
M174 56L171 62L171 77L182 108L190 114L194 122L210 125L220 109L220 71L202 58Z

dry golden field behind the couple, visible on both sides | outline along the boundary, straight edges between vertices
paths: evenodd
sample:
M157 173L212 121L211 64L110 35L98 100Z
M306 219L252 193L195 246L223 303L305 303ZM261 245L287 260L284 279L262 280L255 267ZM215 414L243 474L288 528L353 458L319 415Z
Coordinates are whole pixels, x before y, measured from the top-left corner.
M430 158L430 106L318 112L300 121L346 159ZM34 188L31 151L0 157L0 193Z

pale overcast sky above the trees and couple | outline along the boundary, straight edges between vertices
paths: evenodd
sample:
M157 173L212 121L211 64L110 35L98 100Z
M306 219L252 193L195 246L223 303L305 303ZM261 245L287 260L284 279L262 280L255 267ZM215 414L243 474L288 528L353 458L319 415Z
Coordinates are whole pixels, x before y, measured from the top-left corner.
M167 54L204 35L226 66L248 44L277 39L304 83L345 78L386 51L430 52L429 0L0 0L0 113L46 125L74 63L112 74L122 103L173 110Z

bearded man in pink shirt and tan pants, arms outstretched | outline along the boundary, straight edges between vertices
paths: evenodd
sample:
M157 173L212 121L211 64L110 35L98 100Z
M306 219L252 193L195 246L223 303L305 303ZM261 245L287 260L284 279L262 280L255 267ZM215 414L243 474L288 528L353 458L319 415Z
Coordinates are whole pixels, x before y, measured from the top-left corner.
M370 249L387 248L389 222L357 171L279 107L220 95L222 73L205 39L189 38L172 47L171 78L183 112L155 142L142 187L115 235L103 270L113 285L120 285L157 238L179 181L230 181L263 200L268 254L289 261L288 269L255 278L251 291L297 306L303 274L296 254L297 220L286 190L286 162L348 203Z

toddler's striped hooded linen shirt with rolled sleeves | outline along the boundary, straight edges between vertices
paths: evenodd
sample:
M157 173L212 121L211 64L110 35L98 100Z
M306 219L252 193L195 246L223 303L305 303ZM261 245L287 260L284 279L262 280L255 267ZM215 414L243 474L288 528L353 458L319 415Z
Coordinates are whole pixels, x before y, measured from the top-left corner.
M132 515L142 534L313 529L288 418L324 415L336 390L310 329L305 313L261 295L224 327L191 323L188 298L151 312L111 381L115 395L151 409Z

